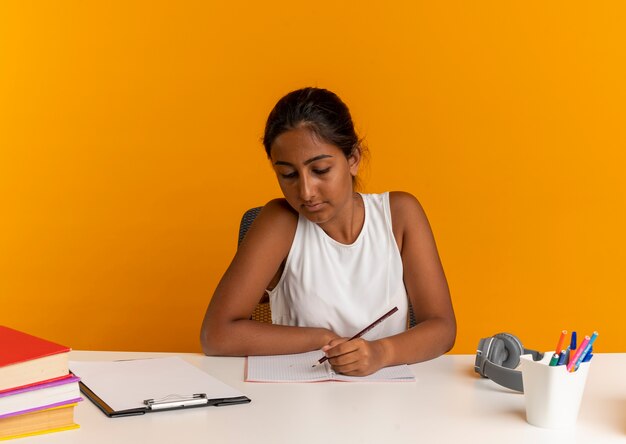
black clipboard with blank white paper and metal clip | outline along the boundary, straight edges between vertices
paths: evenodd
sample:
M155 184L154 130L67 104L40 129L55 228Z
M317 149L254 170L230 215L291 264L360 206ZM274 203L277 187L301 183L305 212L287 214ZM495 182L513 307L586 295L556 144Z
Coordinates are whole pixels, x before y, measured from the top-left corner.
M250 398L180 357L70 362L81 392L106 416L247 404Z

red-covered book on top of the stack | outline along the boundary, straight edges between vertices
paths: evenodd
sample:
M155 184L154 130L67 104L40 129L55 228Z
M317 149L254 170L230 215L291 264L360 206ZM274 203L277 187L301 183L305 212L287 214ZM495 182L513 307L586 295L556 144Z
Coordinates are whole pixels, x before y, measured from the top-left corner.
M0 325L0 391L69 373L70 348Z

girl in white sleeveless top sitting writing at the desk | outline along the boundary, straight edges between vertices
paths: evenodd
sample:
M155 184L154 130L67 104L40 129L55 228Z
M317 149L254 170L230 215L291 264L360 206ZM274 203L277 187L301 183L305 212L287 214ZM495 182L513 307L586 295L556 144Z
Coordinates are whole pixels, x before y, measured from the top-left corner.
M355 192L363 147L341 99L319 88L287 94L263 144L284 198L263 207L217 286L204 352L322 349L335 371L368 375L450 350L456 321L426 215L408 193ZM264 291L272 324L250 319ZM409 301L417 325L407 329Z

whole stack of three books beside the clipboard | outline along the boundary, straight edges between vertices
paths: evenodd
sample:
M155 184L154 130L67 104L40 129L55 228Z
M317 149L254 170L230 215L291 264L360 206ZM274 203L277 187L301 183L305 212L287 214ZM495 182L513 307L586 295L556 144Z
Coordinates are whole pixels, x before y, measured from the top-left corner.
M0 440L78 428L70 349L0 326Z

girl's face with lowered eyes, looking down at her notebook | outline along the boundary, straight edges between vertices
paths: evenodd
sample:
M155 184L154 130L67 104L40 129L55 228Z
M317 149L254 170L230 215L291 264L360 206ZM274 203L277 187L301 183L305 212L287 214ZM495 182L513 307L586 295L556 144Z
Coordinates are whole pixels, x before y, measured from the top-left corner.
M346 158L337 146L319 140L307 128L297 128L278 136L270 153L285 199L311 222L323 225L334 220L352 200L358 150Z

